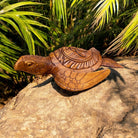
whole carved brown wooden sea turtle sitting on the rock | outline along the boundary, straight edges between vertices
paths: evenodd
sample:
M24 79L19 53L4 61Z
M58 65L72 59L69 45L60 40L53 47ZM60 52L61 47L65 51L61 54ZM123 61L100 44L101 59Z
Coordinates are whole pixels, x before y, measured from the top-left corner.
M114 60L102 58L93 47L89 50L62 47L47 57L21 56L14 69L34 75L52 74L61 88L82 91L98 84L110 74L110 69L96 71L102 65L122 68Z

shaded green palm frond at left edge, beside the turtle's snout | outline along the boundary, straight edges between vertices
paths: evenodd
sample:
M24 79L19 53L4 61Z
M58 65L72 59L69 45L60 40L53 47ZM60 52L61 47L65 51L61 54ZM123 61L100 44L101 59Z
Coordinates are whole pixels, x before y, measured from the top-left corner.
M21 52L21 48L1 32L0 40L0 77L10 79L9 74L16 73L11 62L17 60L17 54Z

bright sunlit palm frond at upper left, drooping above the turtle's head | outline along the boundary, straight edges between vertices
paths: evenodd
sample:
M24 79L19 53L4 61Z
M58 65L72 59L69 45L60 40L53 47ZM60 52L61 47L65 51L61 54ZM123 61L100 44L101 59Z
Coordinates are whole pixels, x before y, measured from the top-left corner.
M11 11L14 8L17 8L19 6L24 6L25 3L27 5L32 4L32 2L19 2L19 3L11 4L9 6L4 7L2 10L0 10L0 20L1 20L1 22L5 22L5 23L8 23L9 25L11 25L17 31L17 33L22 37L22 39L25 40L25 42L28 46L28 49L29 49L29 53L31 55L32 54L35 55L35 41L34 41L34 38L32 36L32 33L35 34L35 36L40 41L42 41L42 43L47 48L48 48L48 44L44 39L40 38L40 35L38 35L38 33L36 31L34 32L33 30L35 30L35 26L44 27L47 29L49 29L49 27L41 24L38 21L34 21L33 19L29 19L28 16L41 17L44 19L48 19L48 18L44 17L40 13L35 13L35 12L30 12L30 11ZM33 4L38 4L38 3L33 2ZM14 8L12 7L12 5ZM7 25L5 25L5 27L6 26Z

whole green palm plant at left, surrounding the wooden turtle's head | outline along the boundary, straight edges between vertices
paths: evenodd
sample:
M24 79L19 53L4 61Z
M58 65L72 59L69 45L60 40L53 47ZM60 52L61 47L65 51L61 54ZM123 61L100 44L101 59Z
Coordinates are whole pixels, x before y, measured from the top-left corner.
M43 22L48 22L48 18L40 13L18 10L21 6L30 5L41 5L41 3L27 1L9 4L8 0L0 2L0 80L2 86L5 86L6 81L13 85L22 81L27 83L30 77L13 69L15 61L22 54L35 55L36 46L46 50L50 48L47 43L47 33L50 28L37 21L41 18Z

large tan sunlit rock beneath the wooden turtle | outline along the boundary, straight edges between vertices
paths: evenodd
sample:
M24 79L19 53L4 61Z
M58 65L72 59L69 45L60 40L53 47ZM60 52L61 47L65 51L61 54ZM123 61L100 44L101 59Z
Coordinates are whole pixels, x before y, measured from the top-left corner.
M136 138L138 58L118 62L125 68L83 92L62 90L52 77L30 83L0 110L0 137Z

